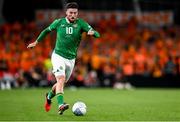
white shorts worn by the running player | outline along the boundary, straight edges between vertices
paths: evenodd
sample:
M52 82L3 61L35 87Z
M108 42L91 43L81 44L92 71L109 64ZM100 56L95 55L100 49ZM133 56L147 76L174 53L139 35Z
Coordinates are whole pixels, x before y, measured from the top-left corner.
M74 69L75 59L66 59L55 52L52 53L51 62L53 66L53 74L56 76L65 76L67 82Z

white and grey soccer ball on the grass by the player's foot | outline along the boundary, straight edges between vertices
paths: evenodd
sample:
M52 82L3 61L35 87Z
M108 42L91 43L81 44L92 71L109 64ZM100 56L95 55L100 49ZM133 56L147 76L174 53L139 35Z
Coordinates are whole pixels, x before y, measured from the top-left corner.
M84 102L78 101L74 103L72 107L72 112L76 116L83 116L86 114L86 109L87 109L86 104Z

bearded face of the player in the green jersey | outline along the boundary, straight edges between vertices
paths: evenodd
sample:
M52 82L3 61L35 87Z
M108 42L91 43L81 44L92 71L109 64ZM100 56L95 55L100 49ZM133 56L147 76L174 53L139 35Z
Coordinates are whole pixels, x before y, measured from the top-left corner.
M70 22L74 22L78 16L78 9L69 8L66 10L66 17Z

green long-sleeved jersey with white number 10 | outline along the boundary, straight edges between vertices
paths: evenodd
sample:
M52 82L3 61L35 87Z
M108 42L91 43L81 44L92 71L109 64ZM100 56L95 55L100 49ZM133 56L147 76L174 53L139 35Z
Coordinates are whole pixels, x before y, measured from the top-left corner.
M57 32L56 45L54 48L56 54L67 59L74 59L77 55L82 33L88 32L91 29L93 30L93 28L82 19L78 18L74 23L70 23L67 18L61 18L56 19L44 31L50 32L55 30ZM46 33L40 34L37 41L41 41L41 36L45 35ZM99 33L95 31L94 37L99 36Z

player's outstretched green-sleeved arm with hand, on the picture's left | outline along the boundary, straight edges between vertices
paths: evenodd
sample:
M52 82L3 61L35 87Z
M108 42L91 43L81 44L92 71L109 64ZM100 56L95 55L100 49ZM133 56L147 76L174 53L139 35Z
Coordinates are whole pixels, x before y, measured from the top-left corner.
M30 44L27 46L27 48L33 48L33 47L35 47L35 46L38 44L38 42L42 41L42 40L46 37L46 35L47 35L48 33L50 33L52 30L55 30L55 29L56 29L57 23L58 23L58 20L55 20L49 27L47 27L46 29L44 29L44 30L39 34L39 36L38 36L38 38L36 39L36 41L30 43Z

